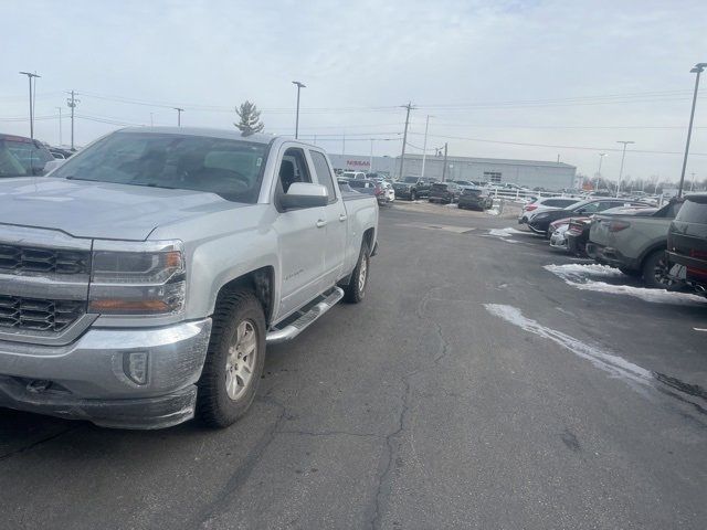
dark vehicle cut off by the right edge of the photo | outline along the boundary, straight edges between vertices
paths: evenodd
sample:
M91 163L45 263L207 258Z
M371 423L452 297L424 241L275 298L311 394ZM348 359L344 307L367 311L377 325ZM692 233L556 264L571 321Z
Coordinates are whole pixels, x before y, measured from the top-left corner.
M707 193L690 194L667 234L668 278L707 296Z

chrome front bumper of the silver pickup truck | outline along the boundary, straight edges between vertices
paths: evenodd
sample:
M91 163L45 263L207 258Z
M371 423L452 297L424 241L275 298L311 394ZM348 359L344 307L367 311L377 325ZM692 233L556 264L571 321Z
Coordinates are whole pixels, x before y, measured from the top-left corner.
M0 341L0 406L120 428L190 420L211 319L165 328L89 329L74 343ZM130 378L141 354L144 381Z

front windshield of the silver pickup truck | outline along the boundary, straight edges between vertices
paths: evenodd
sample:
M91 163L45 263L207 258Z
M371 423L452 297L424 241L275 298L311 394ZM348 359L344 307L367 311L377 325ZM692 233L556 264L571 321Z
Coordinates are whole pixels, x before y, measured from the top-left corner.
M257 201L267 145L150 132L114 132L71 158L52 177L205 191Z

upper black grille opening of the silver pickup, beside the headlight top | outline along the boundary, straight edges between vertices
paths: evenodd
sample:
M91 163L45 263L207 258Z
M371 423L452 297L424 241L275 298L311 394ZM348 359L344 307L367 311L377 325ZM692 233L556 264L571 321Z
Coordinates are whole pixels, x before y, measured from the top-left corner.
M87 274L89 262L88 252L0 244L0 272Z

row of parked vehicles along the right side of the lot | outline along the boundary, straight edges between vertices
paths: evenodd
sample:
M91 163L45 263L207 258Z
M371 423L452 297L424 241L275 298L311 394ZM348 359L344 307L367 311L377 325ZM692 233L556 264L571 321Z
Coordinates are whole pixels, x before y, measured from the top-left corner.
M661 208L620 198L538 199L518 222L551 247L616 267L646 287L707 296L707 193Z

